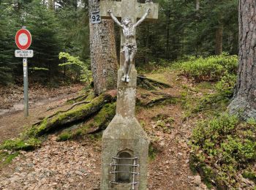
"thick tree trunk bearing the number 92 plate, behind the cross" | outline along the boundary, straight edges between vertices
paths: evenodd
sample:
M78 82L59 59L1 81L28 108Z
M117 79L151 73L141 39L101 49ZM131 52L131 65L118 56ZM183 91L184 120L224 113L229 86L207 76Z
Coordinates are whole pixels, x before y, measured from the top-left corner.
M89 0L89 12L99 10L97 0ZM113 20L90 23L91 71L94 78L94 94L116 88L118 61Z

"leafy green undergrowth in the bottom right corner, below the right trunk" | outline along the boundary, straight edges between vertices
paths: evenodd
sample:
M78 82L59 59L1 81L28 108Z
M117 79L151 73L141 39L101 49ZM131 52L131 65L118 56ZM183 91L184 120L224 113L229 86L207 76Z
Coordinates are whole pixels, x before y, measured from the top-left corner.
M228 114L200 121L191 145L192 170L200 172L209 187L243 189L241 175L255 181L255 121Z

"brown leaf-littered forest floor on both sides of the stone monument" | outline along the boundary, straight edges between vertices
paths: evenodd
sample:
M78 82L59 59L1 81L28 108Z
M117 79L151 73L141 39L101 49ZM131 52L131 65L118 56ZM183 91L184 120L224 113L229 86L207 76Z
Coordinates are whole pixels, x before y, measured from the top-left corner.
M169 83L171 88L159 91L171 96L181 96L183 84L193 86L173 71L151 77ZM143 99L145 93L138 89L138 98ZM70 96L53 99L49 104L34 104L29 120L23 118L22 112L4 114L0 118L0 140L17 137L23 126L38 121L39 115L42 118L66 109L65 102ZM148 164L148 189L207 189L200 176L189 169L188 142L196 119L184 120L181 102L138 108L136 117L155 145L154 158ZM10 164L0 167L0 189L99 189L101 139L91 136L65 142L56 139L56 134L50 134L41 148L21 151Z

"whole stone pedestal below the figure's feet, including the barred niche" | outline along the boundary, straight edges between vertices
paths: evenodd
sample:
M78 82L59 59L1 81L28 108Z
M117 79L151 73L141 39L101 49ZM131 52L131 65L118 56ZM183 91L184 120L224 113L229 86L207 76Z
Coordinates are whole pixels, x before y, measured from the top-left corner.
M137 72L130 72L129 83L121 81L118 70L116 116L102 137L101 189L146 190L148 137L135 118Z

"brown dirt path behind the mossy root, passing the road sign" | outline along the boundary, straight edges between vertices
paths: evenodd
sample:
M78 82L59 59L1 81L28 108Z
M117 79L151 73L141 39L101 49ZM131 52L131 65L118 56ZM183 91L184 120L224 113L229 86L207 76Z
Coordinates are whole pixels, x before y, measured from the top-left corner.
M0 143L4 140L18 137L18 134L23 131L24 127L39 121L47 115L50 115L56 110L65 109L70 105L64 105L67 99L78 96L78 91L83 88L81 85L75 85L66 88L57 88L55 92L48 92L49 98L42 96L42 93L35 91L37 96L29 101L29 117L25 118L23 113L23 102L18 102L19 96L16 94L13 102L9 101L9 107L0 109ZM5 94L4 96L8 96ZM44 97L44 99L39 99Z

